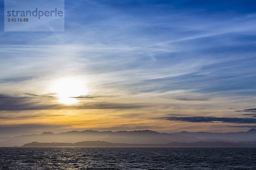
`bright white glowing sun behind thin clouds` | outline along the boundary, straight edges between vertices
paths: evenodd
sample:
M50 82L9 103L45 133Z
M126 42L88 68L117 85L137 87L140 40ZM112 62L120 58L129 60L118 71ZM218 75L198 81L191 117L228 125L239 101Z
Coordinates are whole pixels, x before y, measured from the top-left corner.
M50 91L57 94L58 102L66 105L77 103L75 97L87 94L84 82L76 78L56 79L51 83Z

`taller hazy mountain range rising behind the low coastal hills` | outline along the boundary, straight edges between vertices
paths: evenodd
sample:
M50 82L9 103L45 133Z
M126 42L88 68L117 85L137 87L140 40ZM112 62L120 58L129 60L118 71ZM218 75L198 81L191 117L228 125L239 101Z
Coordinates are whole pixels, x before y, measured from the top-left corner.
M230 135L232 134L232 135ZM167 144L170 142L244 142L256 141L256 129L236 133L210 133L210 132L180 132L159 133L151 130L134 131L68 131L62 133L44 132L40 135L21 135L14 137L0 137L0 146L21 146L30 142L60 142L76 143L81 141L106 141L126 144Z

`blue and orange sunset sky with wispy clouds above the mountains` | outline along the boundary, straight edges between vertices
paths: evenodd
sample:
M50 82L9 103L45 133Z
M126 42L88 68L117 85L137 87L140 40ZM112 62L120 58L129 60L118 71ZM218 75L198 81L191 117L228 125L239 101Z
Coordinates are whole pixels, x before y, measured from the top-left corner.
M65 0L65 31L5 32L0 136L256 127L254 0Z

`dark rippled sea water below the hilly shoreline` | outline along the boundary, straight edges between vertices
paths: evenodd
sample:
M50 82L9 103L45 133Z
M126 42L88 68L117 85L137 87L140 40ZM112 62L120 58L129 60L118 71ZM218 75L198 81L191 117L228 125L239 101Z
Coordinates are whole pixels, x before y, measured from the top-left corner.
M253 147L0 147L1 170L256 170Z

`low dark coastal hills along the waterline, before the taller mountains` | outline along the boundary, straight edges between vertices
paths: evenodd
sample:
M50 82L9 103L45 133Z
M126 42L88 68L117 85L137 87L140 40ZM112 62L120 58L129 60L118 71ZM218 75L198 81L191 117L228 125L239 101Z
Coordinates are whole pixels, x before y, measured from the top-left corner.
M256 147L256 142L232 143L232 142L170 142L167 144L125 144L105 141L83 141L76 143L39 143L32 142L22 147Z

